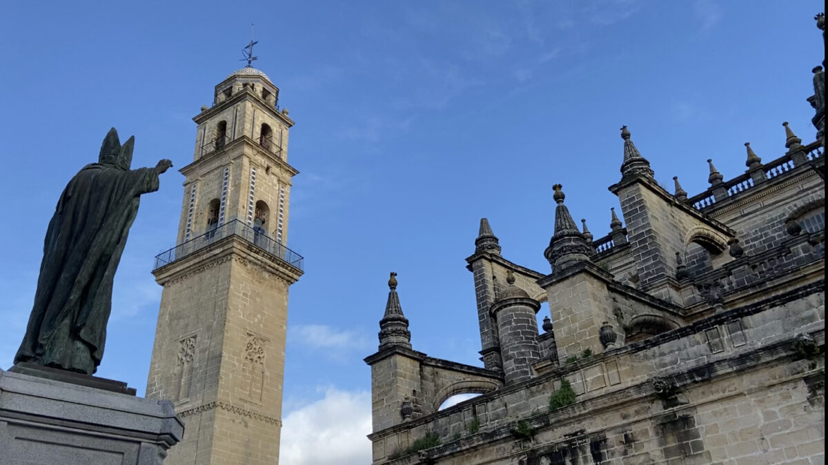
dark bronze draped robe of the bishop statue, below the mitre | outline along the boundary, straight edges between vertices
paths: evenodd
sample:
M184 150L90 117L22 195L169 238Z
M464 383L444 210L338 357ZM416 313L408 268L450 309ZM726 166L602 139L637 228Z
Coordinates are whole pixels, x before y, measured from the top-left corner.
M157 189L152 168L95 163L70 180L49 222L35 304L15 363L88 375L97 370L113 278L139 196Z

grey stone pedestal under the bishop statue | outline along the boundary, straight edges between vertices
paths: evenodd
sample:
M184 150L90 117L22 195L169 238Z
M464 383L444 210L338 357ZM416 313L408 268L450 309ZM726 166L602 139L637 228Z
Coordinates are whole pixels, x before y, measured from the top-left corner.
M0 370L2 463L161 465L184 435L168 400L18 371Z

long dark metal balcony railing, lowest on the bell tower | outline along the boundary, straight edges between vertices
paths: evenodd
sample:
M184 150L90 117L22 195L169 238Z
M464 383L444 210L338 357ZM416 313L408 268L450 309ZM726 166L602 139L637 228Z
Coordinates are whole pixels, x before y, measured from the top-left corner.
M262 251L267 252L272 256L276 256L279 260L286 262L288 265L293 266L299 271L304 269L304 257L296 252L293 252L291 249L282 245L281 242L277 242L272 237L267 237L267 234L264 232L255 231L247 224L238 221L238 219L234 219L229 223L224 223L218 228L205 232L198 237L190 239L189 241L183 242L176 247L172 247L166 252L161 252L156 255L155 265L152 266L152 270L155 271L158 268L161 268L161 266L169 265L173 261L180 260L181 258L190 255L190 253L198 251L204 247L214 244L215 242L219 242L225 237L230 236L240 237L245 242L262 249Z

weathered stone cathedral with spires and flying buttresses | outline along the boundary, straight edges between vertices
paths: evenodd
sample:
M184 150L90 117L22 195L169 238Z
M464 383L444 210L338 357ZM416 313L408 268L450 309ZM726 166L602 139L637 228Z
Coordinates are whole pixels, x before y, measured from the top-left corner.
M697 194L677 177L664 189L622 127L609 232L577 223L555 185L546 271L509 261L481 219L466 261L484 367L412 345L392 273L365 358L373 464L825 463L825 75L812 71L816 137L780 121L777 154L745 143L730 179L708 160ZM478 395L440 410L465 393Z

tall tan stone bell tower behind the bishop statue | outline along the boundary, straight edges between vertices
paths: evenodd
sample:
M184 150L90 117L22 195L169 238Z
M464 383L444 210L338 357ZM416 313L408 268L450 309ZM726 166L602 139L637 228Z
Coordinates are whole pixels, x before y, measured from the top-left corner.
M279 89L251 66L202 107L164 286L147 397L171 399L185 436L166 463L278 463L287 293L302 257L286 247L291 177Z

